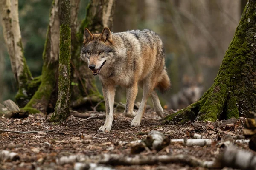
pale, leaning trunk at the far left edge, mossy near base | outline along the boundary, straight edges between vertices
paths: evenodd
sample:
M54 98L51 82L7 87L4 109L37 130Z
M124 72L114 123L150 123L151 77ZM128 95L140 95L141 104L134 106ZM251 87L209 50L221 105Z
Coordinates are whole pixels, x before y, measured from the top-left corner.
M18 0L0 0L0 6L4 40L11 60L12 72L15 76L17 88L19 89L18 93L23 96L27 96L27 82L33 78L23 54L19 25Z

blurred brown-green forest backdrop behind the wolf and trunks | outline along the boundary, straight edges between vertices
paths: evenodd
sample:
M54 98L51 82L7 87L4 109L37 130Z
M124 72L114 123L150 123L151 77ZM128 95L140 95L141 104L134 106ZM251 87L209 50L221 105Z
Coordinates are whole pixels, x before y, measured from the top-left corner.
M79 21L89 0L81 0ZM19 0L25 57L33 77L41 75L42 52L52 0ZM161 94L163 105L184 108L213 83L239 23L246 0L117 0L112 32L151 29L163 40L172 89ZM72 57L72 56L71 56ZM97 79L97 87L101 84ZM17 92L0 27L0 102ZM117 89L116 101L126 92ZM142 91L137 100L140 101Z

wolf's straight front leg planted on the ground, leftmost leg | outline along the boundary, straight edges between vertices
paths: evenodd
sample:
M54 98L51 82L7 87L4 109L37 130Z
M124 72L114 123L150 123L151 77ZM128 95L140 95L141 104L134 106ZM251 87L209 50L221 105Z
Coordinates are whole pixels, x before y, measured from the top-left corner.
M99 128L99 132L110 131L113 122L113 107L115 98L115 87L113 85L102 85L102 92L106 107L105 124Z

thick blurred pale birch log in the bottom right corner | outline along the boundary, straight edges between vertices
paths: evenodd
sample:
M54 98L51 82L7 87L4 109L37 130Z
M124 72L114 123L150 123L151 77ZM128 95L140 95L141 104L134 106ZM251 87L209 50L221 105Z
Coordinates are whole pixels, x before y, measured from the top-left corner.
M216 160L222 167L232 167L241 170L256 170L256 155L235 146L227 147L224 153Z

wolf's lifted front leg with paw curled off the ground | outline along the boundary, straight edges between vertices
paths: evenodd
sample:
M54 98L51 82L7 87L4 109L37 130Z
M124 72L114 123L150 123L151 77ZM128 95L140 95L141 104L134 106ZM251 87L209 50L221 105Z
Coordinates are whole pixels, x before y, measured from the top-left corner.
M126 105L125 105L125 117L134 117L136 112L134 109L134 102L138 93L138 85L134 83L131 87L126 89Z

